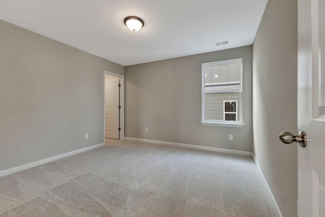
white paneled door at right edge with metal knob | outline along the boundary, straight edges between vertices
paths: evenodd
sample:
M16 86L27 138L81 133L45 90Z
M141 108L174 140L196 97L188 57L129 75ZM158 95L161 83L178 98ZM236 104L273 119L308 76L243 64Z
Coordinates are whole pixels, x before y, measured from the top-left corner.
M298 0L298 216L325 216L325 1Z

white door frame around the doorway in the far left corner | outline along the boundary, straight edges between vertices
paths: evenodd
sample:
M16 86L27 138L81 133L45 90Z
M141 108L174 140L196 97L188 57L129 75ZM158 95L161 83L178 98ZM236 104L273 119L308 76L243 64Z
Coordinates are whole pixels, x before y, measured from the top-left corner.
M108 75L113 75L115 77L120 78L121 81L121 88L120 88L120 106L121 106L121 110L120 110L120 139L124 139L124 75L119 75L113 72L109 72L104 70L104 74L103 74L103 87L104 87L104 98L103 98L103 118L104 118L104 124L103 124L103 141L105 144L105 74Z

